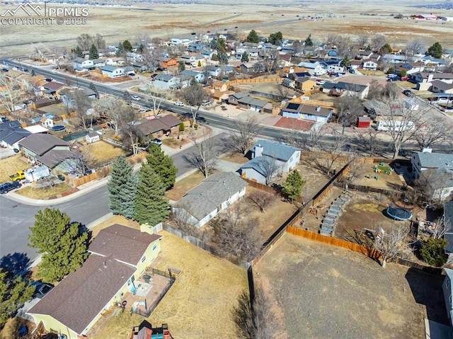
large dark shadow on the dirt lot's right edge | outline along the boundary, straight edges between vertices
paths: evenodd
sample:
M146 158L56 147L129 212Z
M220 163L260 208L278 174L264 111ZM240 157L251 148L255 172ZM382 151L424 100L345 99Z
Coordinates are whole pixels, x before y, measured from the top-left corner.
M426 314L430 321L449 324L445 301L442 293L443 275L430 275L428 273L409 268L406 280L417 304L426 307Z

